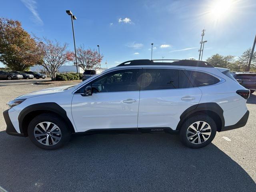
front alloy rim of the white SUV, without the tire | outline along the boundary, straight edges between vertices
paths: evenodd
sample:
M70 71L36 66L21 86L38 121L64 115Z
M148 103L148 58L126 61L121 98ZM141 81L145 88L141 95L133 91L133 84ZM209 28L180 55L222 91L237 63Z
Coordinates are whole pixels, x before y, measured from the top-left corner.
M53 146L61 139L60 128L52 122L41 122L34 128L34 136L43 145Z

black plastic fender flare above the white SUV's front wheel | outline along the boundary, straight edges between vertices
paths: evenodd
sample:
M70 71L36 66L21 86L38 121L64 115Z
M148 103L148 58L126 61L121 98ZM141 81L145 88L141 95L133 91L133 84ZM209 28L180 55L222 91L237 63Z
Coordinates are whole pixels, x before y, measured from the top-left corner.
M69 128L72 128L72 132L74 132L74 126L71 123L70 119L67 116L66 111L59 106L57 103L54 102L46 102L46 103L37 103L37 104L32 104L27 107L25 107L19 114L18 116L18 122L19 122L19 128L20 128L20 133L24 134L24 128L22 127L22 122L24 118L31 112L36 112L39 110L44 110L44 111L49 111L49 112L54 112L58 115L60 115L68 124Z

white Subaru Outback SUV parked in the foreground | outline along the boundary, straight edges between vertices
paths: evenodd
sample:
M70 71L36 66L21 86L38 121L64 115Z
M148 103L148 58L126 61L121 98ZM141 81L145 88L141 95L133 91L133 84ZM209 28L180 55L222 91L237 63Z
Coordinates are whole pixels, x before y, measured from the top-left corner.
M246 124L250 91L228 69L197 60L131 60L76 86L19 96L4 111L10 135L57 149L71 133L168 132L190 148Z

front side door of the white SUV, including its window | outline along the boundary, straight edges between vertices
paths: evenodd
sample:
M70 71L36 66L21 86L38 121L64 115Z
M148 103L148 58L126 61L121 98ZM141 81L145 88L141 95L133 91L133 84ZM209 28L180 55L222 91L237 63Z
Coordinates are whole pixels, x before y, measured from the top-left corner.
M137 128L141 68L102 74L74 94L72 116L78 132L93 129ZM82 96L86 86L91 96Z

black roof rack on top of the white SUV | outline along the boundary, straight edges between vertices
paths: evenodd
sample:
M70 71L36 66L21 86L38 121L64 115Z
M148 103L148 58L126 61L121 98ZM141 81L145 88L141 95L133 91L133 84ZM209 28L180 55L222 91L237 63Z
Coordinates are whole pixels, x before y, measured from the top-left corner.
M154 62L154 61L174 61L174 62ZM119 64L118 66L135 66L135 65L172 65L172 66L192 66L192 67L214 67L211 64L200 60L176 60L176 59L139 59L130 60Z

